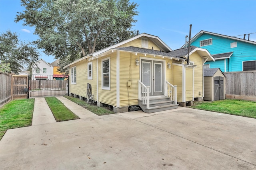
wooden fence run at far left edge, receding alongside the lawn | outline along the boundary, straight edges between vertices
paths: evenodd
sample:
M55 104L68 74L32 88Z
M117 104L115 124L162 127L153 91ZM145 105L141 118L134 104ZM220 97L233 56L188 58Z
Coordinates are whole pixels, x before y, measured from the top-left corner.
M0 72L0 107L12 99L12 75Z

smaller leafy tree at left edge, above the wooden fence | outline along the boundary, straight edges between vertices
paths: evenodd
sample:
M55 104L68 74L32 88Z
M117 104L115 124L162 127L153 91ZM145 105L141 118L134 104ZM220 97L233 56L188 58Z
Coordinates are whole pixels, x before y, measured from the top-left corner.
M0 67L5 72L18 74L38 61L39 53L31 43L18 39L10 30L0 35ZM8 69L6 69L8 67Z

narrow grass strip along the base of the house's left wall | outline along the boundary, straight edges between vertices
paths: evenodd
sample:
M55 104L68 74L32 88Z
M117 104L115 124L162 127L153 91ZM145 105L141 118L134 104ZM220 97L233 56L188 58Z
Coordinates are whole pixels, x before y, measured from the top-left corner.
M84 107L85 109L91 111L92 113L95 113L96 115L109 115L109 114L114 114L115 112L106 109L104 107L98 107L98 106L94 106L94 105L90 105L88 103L86 103L86 101L84 100L80 100L78 98L74 98L72 96L64 96L65 98L67 98L68 100L71 100L72 102Z

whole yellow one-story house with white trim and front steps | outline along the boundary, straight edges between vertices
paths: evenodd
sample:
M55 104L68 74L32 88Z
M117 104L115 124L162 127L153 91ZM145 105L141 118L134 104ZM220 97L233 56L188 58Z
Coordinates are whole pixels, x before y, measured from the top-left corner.
M203 98L203 64L214 61L206 49L172 51L159 37L142 33L96 51L65 67L70 95L108 105L116 113L140 108L152 113Z

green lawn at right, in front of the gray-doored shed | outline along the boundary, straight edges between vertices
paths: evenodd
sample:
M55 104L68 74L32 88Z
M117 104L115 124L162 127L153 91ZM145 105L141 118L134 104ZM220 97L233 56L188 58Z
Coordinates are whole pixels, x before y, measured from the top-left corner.
M217 100L214 102L193 102L190 108L256 118L256 102L246 100Z

